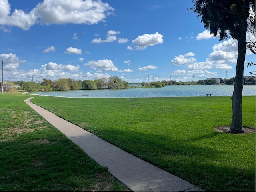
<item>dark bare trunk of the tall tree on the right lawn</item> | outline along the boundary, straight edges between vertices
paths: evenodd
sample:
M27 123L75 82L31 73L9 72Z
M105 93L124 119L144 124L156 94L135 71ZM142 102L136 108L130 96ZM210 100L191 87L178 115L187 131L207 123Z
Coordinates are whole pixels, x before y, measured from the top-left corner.
M244 40L241 40L244 39ZM238 40L238 56L236 63L236 78L232 96L232 122L228 133L244 132L242 125L242 91L244 84L244 62L246 53L246 36Z

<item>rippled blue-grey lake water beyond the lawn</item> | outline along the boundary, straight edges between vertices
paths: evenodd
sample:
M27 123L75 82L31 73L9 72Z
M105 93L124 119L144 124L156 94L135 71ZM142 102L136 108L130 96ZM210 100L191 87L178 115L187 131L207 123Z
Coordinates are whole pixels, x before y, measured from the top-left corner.
M232 96L234 90L233 85L180 85L166 86L162 88L134 88L121 90L76 90L76 91L53 91L44 92L44 96L59 96L59 97L77 97L89 95L93 98L102 97L189 97L189 96ZM31 94L42 95L42 92L33 92ZM255 95L255 86L246 85L243 88L243 95Z

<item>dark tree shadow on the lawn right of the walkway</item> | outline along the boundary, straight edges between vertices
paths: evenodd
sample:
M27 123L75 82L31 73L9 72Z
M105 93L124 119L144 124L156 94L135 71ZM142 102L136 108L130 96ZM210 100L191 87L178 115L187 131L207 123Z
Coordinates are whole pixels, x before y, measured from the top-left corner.
M176 139L172 135L131 130L108 131L112 144L204 190L255 191L255 152L244 149L243 156L239 149L223 147L232 142L224 133L212 130L208 134Z

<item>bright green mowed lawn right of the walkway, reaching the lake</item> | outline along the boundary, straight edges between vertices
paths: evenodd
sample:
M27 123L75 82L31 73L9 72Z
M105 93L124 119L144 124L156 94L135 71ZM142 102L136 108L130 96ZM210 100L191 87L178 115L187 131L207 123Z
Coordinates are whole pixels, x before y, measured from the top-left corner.
M127 99L31 101L204 190L255 191L255 133L214 129L230 126L230 97ZM255 96L242 104L243 126L255 129Z

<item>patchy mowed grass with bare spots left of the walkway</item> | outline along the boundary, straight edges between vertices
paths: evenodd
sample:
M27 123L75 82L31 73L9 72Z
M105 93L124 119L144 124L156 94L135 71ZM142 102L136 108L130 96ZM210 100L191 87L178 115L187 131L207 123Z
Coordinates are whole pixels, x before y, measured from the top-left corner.
M0 191L127 191L34 112L28 95L0 93Z

